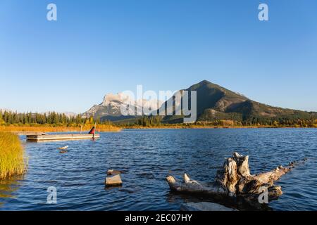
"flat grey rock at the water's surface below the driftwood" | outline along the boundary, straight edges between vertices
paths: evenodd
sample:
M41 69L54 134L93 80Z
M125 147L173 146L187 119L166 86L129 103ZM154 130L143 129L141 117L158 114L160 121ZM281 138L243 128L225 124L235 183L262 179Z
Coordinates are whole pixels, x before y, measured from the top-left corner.
M223 205L217 203L185 203L180 207L182 211L237 211L235 209L231 209L225 207Z

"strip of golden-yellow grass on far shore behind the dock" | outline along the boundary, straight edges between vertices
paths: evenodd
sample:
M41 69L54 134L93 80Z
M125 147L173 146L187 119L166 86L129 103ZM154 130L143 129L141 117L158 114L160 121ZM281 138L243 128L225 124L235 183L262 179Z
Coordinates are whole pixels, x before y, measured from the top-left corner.
M85 124L82 126L82 131L89 131L92 129L92 124ZM106 132L106 131L120 131L119 127L115 127L113 125L106 124L97 124L97 131ZM70 131L80 131L80 126L73 127L54 127L50 125L32 125L32 126L19 126L19 125L11 125L11 126L0 126L0 131L4 132L18 132L18 131L32 131L32 132L70 132Z

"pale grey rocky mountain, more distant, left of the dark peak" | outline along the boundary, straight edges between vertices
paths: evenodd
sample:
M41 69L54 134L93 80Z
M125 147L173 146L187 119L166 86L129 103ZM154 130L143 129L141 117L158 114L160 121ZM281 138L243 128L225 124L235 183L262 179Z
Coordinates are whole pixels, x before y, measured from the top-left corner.
M139 99L135 103L135 109L133 109L128 107L128 103L130 103L131 100L130 96L123 93L106 94L102 103L92 106L92 108L83 113L82 116L89 117L92 115L94 118L100 118L101 120L116 121L135 117L136 115L134 113L137 112L137 110L142 110L142 105L150 105L152 110L156 110L161 105L161 102L155 99L151 99L149 101ZM121 114L121 107L128 108L129 116Z

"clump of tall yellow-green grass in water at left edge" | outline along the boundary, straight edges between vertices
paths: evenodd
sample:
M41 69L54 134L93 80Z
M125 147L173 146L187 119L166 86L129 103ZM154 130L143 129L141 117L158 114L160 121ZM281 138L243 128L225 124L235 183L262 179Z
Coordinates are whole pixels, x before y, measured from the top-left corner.
M25 169L24 149L18 136L0 132L0 179L23 174Z

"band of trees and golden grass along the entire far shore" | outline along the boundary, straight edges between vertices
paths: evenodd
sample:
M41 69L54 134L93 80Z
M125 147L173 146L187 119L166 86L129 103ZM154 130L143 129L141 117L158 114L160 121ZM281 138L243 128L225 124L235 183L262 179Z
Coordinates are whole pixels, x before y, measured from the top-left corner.
M179 120L176 121L181 121ZM108 121L81 115L68 116L64 113L16 113L0 110L0 131L85 131L97 123L97 131L120 131L134 128L261 128L261 127L314 127L317 128L316 118L249 118L240 120L210 120L197 121L190 124L182 122L166 122L161 116L141 116L128 120Z

